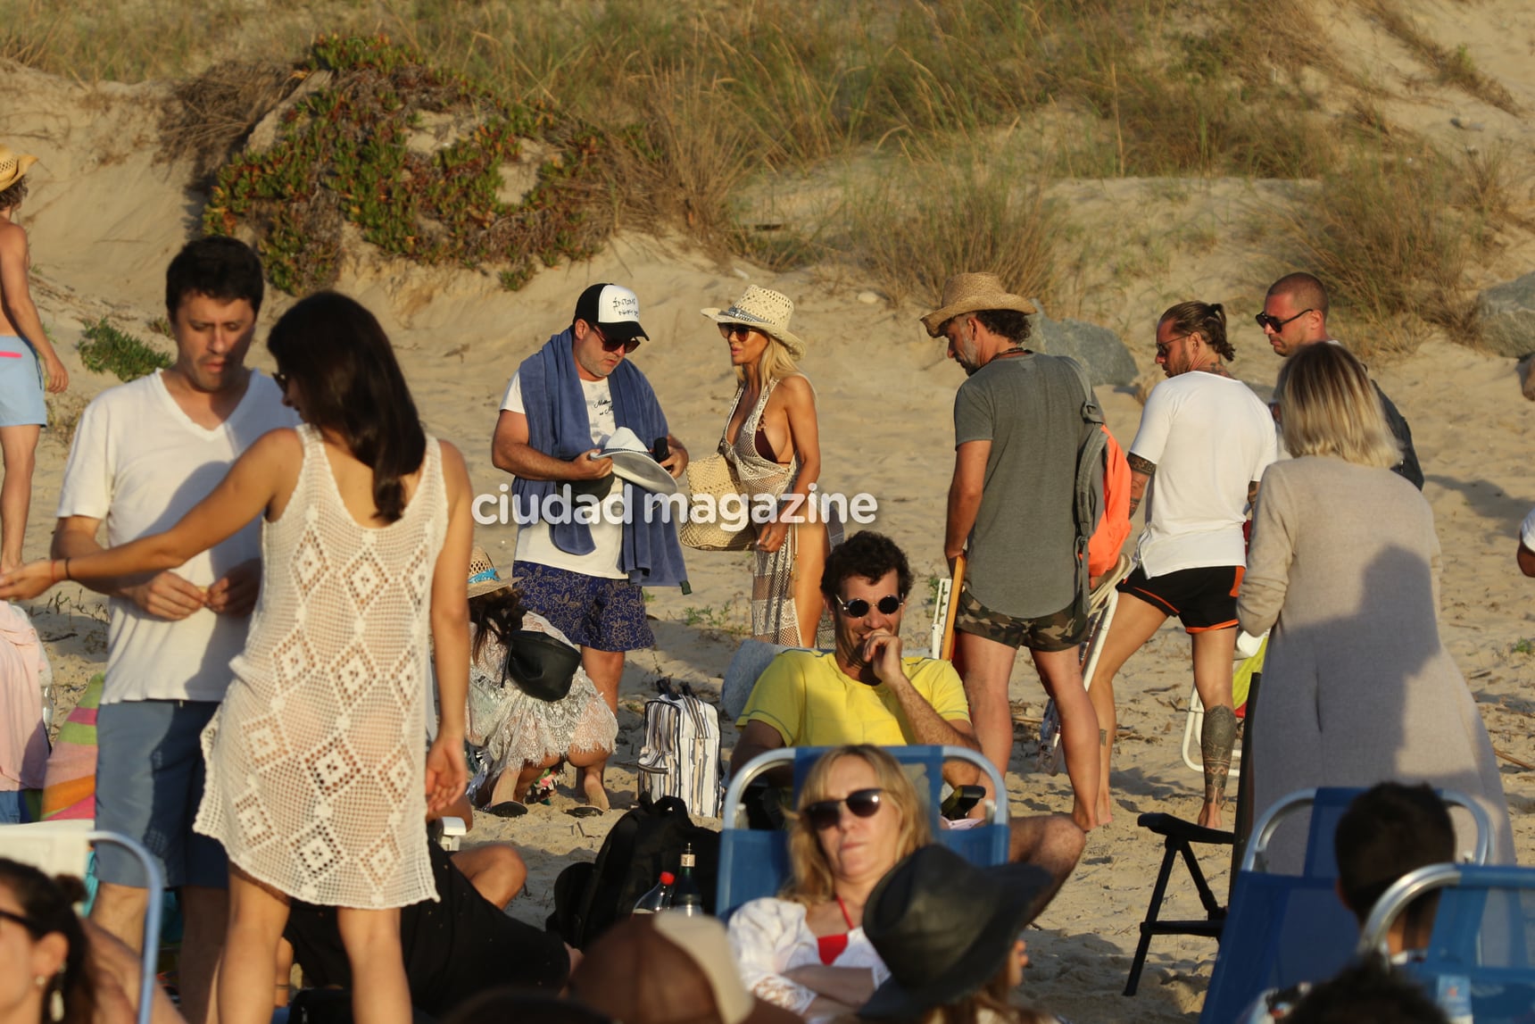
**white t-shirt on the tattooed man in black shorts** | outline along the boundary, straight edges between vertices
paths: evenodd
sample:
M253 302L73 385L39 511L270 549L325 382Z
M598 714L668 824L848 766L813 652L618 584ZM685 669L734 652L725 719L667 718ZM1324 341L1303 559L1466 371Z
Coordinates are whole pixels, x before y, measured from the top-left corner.
M1274 419L1246 384L1202 370L1162 381L1130 454L1156 464L1137 548L1148 577L1246 565L1248 484L1276 457Z

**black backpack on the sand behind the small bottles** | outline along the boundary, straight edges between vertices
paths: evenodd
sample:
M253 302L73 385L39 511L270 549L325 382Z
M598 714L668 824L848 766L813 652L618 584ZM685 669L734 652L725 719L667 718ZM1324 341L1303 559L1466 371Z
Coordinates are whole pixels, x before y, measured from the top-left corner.
M694 824L688 804L677 797L652 803L642 795L640 804L608 832L596 861L569 864L554 880L554 913L550 915L548 930L559 932L576 949L586 949L629 915L663 870L677 872L685 843L692 843L692 877L703 894L705 909L714 913L720 834Z

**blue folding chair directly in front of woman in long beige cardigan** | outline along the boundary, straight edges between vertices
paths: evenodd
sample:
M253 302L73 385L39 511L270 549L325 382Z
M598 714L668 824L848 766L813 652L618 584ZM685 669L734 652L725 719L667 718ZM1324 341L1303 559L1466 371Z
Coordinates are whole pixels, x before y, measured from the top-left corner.
M1205 993L1202 1024L1228 1024L1268 989L1331 978L1354 953L1358 921L1339 900L1332 835L1339 818L1363 789L1302 789L1280 798L1253 823L1253 838L1231 887L1231 906L1220 933L1220 953ZM1492 826L1467 797L1440 791L1440 798L1464 808L1477 824L1471 857L1486 861ZM1268 870L1276 832L1297 812L1311 811L1306 858L1300 875Z

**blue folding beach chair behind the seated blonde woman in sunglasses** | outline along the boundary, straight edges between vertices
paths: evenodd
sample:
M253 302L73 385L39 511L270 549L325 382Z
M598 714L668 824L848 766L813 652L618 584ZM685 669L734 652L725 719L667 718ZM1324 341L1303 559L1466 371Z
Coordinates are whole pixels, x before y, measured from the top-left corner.
M720 881L714 906L726 920L749 900L778 895L789 880L789 834L783 829L748 829L743 797L746 788L764 772L794 765L794 792L798 795L810 766L829 751L826 746L795 746L758 754L731 780L725 794L725 821L720 831ZM887 746L883 748L913 775L916 794L926 800L933 835L972 864L1007 863L1007 783L992 761L962 746ZM942 766L946 760L969 761L992 778L996 794L990 815L967 829L939 826Z

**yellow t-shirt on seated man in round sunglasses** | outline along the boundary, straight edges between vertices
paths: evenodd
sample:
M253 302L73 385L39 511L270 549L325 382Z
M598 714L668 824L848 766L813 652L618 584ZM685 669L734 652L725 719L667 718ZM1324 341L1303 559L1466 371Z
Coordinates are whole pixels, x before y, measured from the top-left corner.
M901 665L923 700L944 722L969 722L959 672L949 662L904 657ZM766 722L784 746L838 746L916 743L912 723L889 686L866 686L837 668L837 656L784 651L757 679L737 726Z

